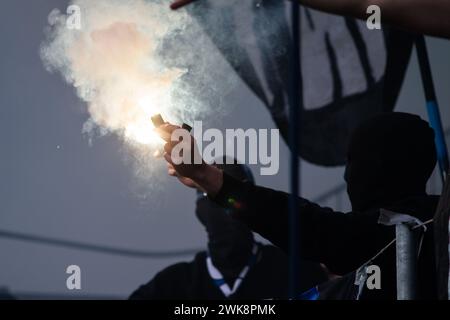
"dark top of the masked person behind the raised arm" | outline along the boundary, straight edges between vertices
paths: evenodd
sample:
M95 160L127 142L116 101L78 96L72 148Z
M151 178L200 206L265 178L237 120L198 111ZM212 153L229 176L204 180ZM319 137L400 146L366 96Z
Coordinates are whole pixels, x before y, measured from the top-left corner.
M285 254L273 246L260 246L257 263L250 269L241 286L229 299L285 299L288 291L288 266ZM316 264L304 262L304 289L324 281ZM159 272L150 282L139 287L132 300L224 300L206 268L206 252L198 253L191 262L172 265Z

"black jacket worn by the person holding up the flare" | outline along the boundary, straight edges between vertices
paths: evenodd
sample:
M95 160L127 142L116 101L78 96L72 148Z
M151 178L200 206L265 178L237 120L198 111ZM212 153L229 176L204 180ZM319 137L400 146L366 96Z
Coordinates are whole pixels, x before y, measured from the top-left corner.
M233 206L235 218L287 251L289 194L243 183L224 174L222 189L214 200L224 207ZM322 262L333 273L344 275L356 270L395 238L395 227L378 224L378 208L341 213L303 198L298 201L301 258ZM433 217L437 202L438 197L423 195L395 201L385 209L427 221ZM421 298L436 297L432 241L430 224L419 259ZM381 268L382 288L367 292L363 298L395 299L395 246L374 263Z

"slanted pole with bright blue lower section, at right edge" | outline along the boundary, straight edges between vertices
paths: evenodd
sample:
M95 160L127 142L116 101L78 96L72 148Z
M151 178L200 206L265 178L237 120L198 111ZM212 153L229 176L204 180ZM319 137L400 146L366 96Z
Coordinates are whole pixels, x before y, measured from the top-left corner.
M449 160L447 144L445 143L444 130L442 128L441 115L439 112L439 104L437 102L436 91L431 73L430 59L428 57L425 37L420 35L416 39L417 58L419 59L420 73L422 75L422 83L425 91L425 99L427 103L428 118L430 125L434 130L436 151L441 171L442 181L445 181L449 173Z

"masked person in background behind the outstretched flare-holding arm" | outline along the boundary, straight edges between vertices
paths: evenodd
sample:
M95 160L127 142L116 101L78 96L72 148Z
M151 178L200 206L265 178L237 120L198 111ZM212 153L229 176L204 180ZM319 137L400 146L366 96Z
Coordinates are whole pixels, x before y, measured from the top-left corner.
M253 184L250 170L237 164L216 165L244 183ZM138 288L133 300L223 300L286 298L287 258L278 248L255 241L252 231L197 191L196 217L208 234L207 252L192 262L172 265ZM323 282L318 264L303 262L304 289Z

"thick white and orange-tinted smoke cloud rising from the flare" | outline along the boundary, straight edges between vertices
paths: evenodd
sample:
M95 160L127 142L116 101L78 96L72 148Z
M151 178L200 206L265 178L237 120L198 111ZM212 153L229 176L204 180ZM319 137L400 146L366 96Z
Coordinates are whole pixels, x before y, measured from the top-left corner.
M211 61L193 60L192 51L204 50L198 48L198 26L183 10L172 12L169 3L73 0L71 5L81 9L79 30L68 28L67 16L59 11L50 14L41 58L87 102L90 119L83 131L91 137L96 132L115 133L131 144L155 146L161 141L153 132L152 115L162 113L180 122L187 113L193 119L205 111L194 92L202 88L192 82L214 82L204 79ZM183 46L170 45L184 34L191 40L197 37L197 48L188 46L189 38L179 39L184 52ZM204 65L195 68L196 75L189 74L194 63Z

